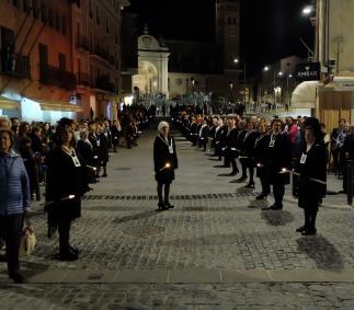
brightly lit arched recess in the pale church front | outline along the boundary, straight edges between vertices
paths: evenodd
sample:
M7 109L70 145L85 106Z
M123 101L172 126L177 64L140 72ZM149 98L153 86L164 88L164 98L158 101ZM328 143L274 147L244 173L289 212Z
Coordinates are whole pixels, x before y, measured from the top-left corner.
M140 90L140 94L151 94L158 89L159 71L150 61L140 61L138 74L134 76L134 87Z

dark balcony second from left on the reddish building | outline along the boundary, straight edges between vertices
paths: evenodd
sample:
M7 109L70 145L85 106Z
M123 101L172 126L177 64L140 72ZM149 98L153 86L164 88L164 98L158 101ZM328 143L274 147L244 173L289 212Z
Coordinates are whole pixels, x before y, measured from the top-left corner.
M45 64L39 64L39 81L43 84L56 85L66 90L73 90L77 85L73 73Z

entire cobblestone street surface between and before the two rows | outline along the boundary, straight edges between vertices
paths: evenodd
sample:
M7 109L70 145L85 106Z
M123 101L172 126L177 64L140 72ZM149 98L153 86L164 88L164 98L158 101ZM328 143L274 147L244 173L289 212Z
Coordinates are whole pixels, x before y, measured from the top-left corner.
M263 211L273 202L254 199L259 190L230 183L227 169L176 137L180 169L172 185L175 208L157 213L152 174L152 138L146 131L139 146L112 154L109 177L83 200L82 217L73 223L71 243L77 262L57 260L57 238L46 238L43 202L35 203L32 221L38 240L34 254L22 260L31 275L44 271L50 283L11 285L0 265L1 309L333 309L354 308L354 214L343 195L328 196L318 215L318 236L300 237L301 210L287 191L283 211ZM329 180L338 191L340 181ZM256 188L260 188L256 183ZM289 190L289 188L288 188ZM238 278L229 284L60 283L60 273L132 273L159 271L283 272L278 283ZM292 279L306 271L308 278ZM318 280L327 271L352 275L345 282ZM288 276L286 277L286 273ZM52 274L50 274L52 273ZM2 300L5 302L3 303ZM31 302L31 303L28 303Z

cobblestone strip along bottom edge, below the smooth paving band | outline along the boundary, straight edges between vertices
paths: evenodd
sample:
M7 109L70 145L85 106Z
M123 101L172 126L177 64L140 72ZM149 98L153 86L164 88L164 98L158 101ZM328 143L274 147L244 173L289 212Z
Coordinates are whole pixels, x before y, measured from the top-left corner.
M1 309L353 309L352 284L1 286ZM31 302L31 303L28 303ZM3 306L5 305L5 308ZM23 308L26 305L26 308Z

